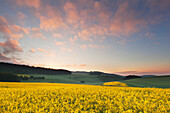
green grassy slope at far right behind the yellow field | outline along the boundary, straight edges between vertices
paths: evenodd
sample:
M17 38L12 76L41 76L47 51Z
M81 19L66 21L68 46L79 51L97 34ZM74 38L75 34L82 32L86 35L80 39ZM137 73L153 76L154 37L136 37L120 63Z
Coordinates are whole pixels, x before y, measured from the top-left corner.
M170 76L154 76L121 81L132 87L170 88Z

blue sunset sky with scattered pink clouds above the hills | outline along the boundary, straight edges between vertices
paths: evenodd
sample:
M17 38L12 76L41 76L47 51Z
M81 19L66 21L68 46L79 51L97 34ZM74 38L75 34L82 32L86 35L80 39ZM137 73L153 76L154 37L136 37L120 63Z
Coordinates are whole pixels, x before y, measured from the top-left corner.
M170 0L0 0L0 61L170 74Z

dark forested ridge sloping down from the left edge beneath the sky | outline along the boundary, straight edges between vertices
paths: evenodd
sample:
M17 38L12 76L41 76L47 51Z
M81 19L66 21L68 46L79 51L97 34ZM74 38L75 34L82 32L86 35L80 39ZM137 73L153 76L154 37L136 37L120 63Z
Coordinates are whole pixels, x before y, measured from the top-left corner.
M4 62L0 62L0 72L13 74L46 74L46 75L71 74L71 71L63 69L49 69Z

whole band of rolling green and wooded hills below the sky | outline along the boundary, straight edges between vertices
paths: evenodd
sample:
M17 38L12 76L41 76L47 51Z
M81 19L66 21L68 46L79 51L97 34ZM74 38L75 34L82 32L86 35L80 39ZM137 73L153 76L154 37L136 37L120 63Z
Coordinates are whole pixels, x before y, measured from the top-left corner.
M110 74L98 71L68 71L63 69L48 69L27 65L18 65L0 62L0 73L11 73L18 75L21 82L48 82L48 83L73 83L73 84L92 84L102 85L105 82L120 81L130 87L157 87L170 88L170 75L154 76L146 75L141 78L125 80L127 76ZM2 74L1 74L2 75ZM2 75L7 76L7 74ZM1 76L1 78L2 78ZM21 79L26 76L28 79ZM9 80L11 81L11 78ZM7 80L7 79L6 79ZM18 80L19 81L19 80Z

